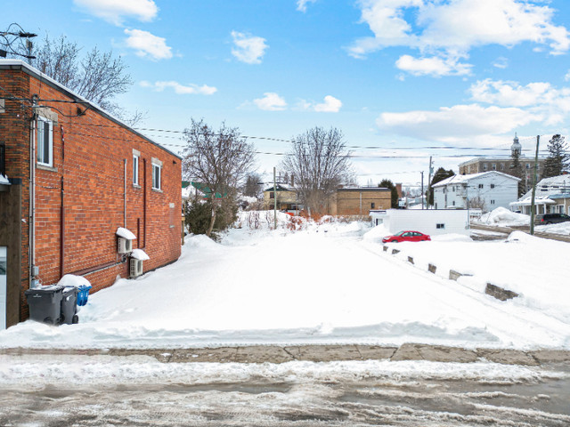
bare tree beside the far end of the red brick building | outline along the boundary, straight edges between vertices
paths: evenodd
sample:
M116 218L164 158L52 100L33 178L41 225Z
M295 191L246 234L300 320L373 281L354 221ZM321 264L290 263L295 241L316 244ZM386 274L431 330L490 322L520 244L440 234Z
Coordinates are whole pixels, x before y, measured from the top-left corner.
M253 144L240 136L238 128L224 123L214 131L204 120L191 120L184 129L183 175L208 187L212 201L212 217L206 234L211 235L216 222L216 212L227 212L235 204L240 183L254 165ZM218 209L221 208L221 209Z

